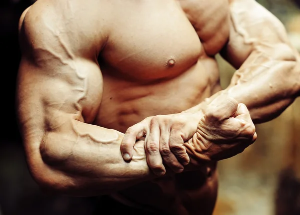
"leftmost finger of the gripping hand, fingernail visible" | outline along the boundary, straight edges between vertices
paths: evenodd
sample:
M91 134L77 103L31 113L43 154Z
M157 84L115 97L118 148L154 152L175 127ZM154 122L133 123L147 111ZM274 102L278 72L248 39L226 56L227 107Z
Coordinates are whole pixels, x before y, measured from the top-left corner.
M136 139L141 138L145 133L145 125L140 122L131 127L129 127L121 142L121 154L125 161L132 159L133 155L133 146L136 142Z

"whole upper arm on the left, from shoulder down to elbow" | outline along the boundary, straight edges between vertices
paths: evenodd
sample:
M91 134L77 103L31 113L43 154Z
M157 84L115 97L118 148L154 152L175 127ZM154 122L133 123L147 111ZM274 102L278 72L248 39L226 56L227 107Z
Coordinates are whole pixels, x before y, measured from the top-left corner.
M16 111L32 170L40 165L35 161L47 133L67 132L74 119L92 121L102 95L96 61L101 36L94 41L87 28L83 37L87 25L67 24L56 12L51 5L32 5L19 32Z

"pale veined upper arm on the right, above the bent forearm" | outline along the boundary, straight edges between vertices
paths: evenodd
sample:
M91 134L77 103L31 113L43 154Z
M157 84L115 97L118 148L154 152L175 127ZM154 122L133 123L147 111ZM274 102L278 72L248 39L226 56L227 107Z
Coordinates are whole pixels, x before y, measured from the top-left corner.
M262 49L274 59L294 60L295 50L278 18L255 0L229 0L229 3L229 39L220 52L225 60L239 68L251 53Z

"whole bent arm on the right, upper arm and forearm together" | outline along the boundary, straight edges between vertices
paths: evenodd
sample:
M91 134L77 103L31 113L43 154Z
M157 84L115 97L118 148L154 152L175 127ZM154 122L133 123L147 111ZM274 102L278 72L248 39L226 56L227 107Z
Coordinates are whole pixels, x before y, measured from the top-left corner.
M229 38L220 55L237 70L219 94L244 103L254 123L266 122L298 96L300 56L280 20L255 0L229 6Z

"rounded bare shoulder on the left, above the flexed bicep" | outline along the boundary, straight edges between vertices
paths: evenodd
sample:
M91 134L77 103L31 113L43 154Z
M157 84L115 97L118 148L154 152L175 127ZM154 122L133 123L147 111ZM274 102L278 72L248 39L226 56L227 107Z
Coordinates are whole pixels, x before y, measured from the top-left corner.
M86 2L93 4L86 4ZM95 0L37 0L19 19L20 43L27 50L45 47L91 51L100 49L108 36L107 21L95 8ZM85 50L84 50L85 49Z

